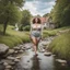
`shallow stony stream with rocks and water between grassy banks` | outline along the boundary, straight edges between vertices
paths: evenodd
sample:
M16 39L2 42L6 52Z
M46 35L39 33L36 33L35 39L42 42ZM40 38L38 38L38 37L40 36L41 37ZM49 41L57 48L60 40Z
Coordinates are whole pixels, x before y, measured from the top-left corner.
M55 37L48 37L42 40L39 47L48 47ZM49 52L46 48L44 51L38 51L38 56L32 49L33 44L26 43L9 49L9 55L0 60L0 70L69 70L70 68L62 62L56 61L55 55ZM62 60L61 60L62 61ZM47 65L47 66L46 66ZM38 68L39 67L39 68Z

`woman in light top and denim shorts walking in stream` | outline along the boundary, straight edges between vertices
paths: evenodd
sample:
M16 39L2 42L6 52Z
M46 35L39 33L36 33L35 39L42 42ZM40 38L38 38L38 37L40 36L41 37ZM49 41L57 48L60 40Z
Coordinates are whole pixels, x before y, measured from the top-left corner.
M31 23L31 39L34 44L33 48L34 48L34 51L35 51L35 55L37 55L37 45L38 45L38 42L42 38L42 22L40 22L40 19L39 18L35 18L33 20L33 23Z

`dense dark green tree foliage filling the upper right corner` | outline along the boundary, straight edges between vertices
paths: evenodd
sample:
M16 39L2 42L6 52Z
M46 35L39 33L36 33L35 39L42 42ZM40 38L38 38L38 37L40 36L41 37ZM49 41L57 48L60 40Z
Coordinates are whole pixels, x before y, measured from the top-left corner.
M57 0L50 15L57 27L70 25L70 0Z

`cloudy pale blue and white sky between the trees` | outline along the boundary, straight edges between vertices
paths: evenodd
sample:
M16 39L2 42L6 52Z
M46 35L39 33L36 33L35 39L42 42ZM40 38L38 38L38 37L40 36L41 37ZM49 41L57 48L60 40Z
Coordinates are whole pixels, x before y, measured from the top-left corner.
M55 0L26 0L23 9L30 10L33 15L49 13Z

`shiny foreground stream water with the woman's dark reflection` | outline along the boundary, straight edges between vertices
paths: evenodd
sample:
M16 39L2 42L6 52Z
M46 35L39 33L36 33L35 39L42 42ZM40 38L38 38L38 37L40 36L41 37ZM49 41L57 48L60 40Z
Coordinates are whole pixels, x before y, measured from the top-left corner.
M70 68L56 62L52 56L47 57L42 52L34 56L34 52L28 50L27 55L23 55L15 70L70 70Z

